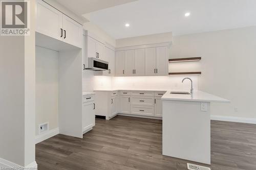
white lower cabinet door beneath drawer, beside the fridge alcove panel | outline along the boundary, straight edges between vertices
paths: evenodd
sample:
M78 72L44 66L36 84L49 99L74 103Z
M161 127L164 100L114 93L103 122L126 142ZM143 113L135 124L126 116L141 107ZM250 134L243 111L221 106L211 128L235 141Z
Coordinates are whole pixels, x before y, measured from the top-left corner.
M82 104L82 131L86 131L95 126L95 105L93 102Z

